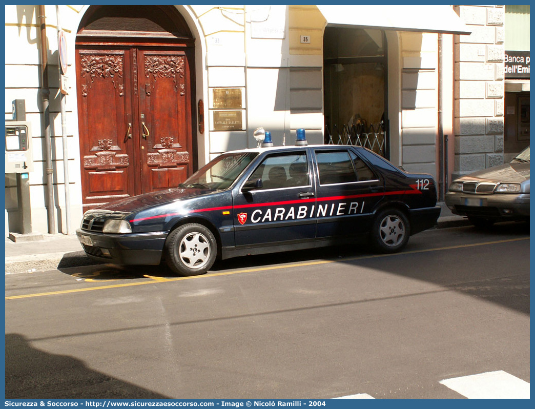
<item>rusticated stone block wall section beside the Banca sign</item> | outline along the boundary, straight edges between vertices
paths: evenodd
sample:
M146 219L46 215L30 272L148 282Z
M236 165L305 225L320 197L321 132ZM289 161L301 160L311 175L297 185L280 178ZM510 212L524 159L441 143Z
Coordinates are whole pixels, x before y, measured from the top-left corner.
M503 163L505 6L456 6L472 29L455 42L455 169Z

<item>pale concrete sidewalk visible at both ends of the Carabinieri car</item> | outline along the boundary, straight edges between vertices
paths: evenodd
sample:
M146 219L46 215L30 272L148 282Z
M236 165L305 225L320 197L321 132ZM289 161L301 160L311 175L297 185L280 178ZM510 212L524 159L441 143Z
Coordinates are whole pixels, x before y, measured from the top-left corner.
M436 228L444 229L468 225L468 219L456 216L447 208L441 207ZM35 240L37 239L37 240ZM5 239L5 271L6 274L26 271L53 270L58 267L87 266L93 264L83 252L76 234L39 234L34 237L17 235L14 242Z

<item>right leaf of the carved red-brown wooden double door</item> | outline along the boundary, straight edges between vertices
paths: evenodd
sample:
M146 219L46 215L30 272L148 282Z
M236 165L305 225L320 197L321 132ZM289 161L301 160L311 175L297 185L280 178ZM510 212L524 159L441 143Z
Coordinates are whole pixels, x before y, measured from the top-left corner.
M192 173L189 64L185 51L139 50L142 189L177 186Z

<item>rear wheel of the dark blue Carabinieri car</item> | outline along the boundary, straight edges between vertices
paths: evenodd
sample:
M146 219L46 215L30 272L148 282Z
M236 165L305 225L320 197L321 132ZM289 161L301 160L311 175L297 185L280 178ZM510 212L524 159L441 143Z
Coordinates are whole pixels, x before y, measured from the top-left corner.
M409 237L409 220L401 210L381 210L373 220L372 243L380 253L401 251L407 245Z

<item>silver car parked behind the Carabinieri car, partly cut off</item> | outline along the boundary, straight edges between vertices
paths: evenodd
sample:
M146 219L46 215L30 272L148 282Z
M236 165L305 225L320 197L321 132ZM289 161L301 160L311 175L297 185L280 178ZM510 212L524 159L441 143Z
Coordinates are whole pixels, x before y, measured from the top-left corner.
M509 163L454 180L446 193L446 205L477 227L529 220L530 148Z

